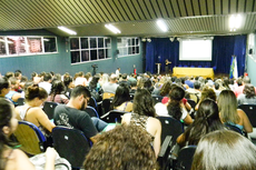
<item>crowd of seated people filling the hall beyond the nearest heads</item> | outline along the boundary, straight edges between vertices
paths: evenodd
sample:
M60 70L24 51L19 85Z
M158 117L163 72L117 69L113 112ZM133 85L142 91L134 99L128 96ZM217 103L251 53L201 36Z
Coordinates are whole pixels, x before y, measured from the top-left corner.
M23 86L19 86L18 77L20 77L19 73L14 78L14 73L8 72L3 78L0 78L0 97L9 99L16 107L17 100L7 94L10 91L18 94L22 91ZM86 137L93 141L93 137L104 131L107 123L99 118L91 119L88 114L83 116L85 108L90 104L88 103L90 97L100 103L102 94L109 92L114 94L110 108L129 112L122 117L121 123L135 123L142 127L151 137L150 143L156 158L161 143L161 123L156 119L158 116L171 117L184 123L185 132L177 139L177 143L181 147L197 146L207 133L228 129L225 127L227 123L236 126L247 133L253 132L246 113L237 109L242 103L255 103L255 88L250 84L248 77L234 81L227 78L211 80L201 77L152 76L148 72L138 76L125 73L119 78L115 73L98 73L91 77L90 73L78 72L71 77L66 72L61 78L60 74L53 72L39 74L33 72L30 81L31 84L27 87L27 90L23 89L26 104L16 108L19 120L43 127L48 132L52 131L55 124L76 128L83 131ZM88 91L81 87L86 87ZM73 89L76 90L73 91ZM132 100L130 94L134 96ZM197 96L194 108L196 110L195 120L190 116L191 106L187 101L190 98L189 94ZM152 96L164 98L161 102L155 103ZM46 100L60 103L56 108L55 123L47 119L41 109L41 104ZM65 116L61 114L63 112L66 112ZM75 112L77 117L71 114Z

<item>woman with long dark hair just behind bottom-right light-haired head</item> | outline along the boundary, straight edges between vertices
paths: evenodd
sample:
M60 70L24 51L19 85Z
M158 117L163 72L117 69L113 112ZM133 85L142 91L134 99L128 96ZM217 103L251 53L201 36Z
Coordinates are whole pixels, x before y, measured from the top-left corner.
M195 121L177 138L180 147L197 146L200 138L210 131L224 129L218 116L218 106L211 99L204 100L197 111Z

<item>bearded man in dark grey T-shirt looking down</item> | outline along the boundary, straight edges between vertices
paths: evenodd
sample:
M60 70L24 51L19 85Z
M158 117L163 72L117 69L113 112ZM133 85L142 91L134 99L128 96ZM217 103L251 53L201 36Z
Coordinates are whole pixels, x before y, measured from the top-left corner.
M72 90L67 106L59 104L56 107L53 116L56 126L81 130L89 139L96 136L98 131L104 130L107 127L106 122L98 118L90 118L87 112L82 111L86 109L89 99L90 91L83 86L77 86Z

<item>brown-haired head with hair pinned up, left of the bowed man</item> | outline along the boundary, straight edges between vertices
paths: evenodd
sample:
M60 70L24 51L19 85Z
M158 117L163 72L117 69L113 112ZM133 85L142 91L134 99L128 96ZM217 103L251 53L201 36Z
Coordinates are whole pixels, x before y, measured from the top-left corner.
M38 84L32 84L24 91L24 99L28 102L33 101L36 106L41 106L47 100L48 93L43 88Z

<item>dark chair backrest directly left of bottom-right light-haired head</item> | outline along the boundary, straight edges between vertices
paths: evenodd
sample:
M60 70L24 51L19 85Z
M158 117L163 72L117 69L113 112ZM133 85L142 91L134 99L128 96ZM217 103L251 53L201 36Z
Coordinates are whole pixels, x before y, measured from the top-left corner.
M175 169L190 170L195 151L196 146L187 146L181 148L178 153Z

